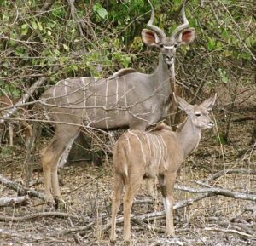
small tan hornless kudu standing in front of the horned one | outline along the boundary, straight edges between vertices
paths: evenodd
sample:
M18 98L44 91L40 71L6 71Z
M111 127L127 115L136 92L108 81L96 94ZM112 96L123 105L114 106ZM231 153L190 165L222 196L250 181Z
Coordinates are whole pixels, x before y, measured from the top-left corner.
M120 197L125 188L124 205L124 240L131 239L131 206L143 178L158 177L160 191L166 211L166 235L174 236L173 226L173 191L177 170L181 163L195 151L201 140L201 129L210 129L213 123L209 117L216 100L216 94L201 105L192 106L175 96L177 106L188 114L176 132L164 123L156 130L128 130L113 147L114 186L112 203L112 227L110 240L116 240L115 226Z

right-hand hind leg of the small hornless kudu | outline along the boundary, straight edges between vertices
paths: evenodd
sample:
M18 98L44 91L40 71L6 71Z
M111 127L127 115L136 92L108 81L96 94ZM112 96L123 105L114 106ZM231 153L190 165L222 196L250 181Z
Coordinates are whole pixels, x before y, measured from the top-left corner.
M130 180L127 191L124 196L124 241L130 242L131 240L131 206L133 199L137 194L143 177L137 177L137 180Z

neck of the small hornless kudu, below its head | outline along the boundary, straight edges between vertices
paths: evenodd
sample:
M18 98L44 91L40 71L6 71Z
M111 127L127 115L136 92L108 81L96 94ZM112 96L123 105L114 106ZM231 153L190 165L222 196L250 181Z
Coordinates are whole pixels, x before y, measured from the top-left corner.
M180 125L176 134L183 147L184 157L193 152L201 140L201 129L195 127L189 117Z

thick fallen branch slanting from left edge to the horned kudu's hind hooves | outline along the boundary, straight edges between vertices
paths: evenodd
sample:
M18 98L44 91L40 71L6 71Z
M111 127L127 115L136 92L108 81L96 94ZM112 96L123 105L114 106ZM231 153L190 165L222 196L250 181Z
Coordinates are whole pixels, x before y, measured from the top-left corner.
M0 174L0 184L2 184L3 186L6 186L12 190L15 190L18 193L26 194L31 197L38 197L39 199L41 199L45 202L45 197L44 197L43 193L34 191L32 189L27 188L26 186L17 184L15 181L12 181L12 180L9 180L8 178L3 177L2 174Z

